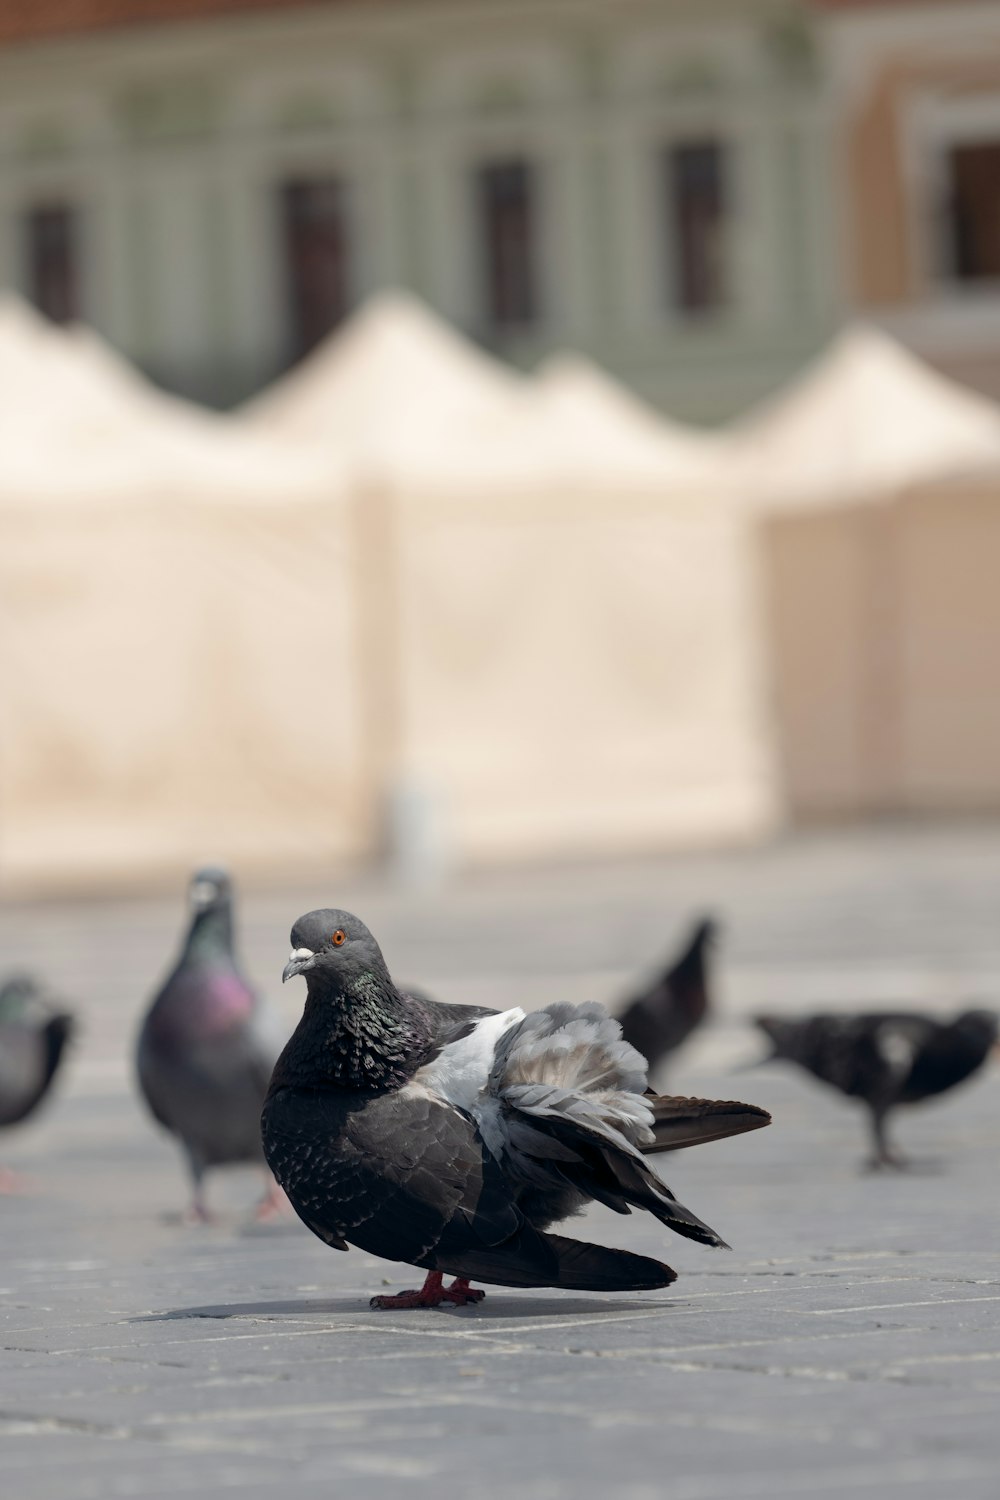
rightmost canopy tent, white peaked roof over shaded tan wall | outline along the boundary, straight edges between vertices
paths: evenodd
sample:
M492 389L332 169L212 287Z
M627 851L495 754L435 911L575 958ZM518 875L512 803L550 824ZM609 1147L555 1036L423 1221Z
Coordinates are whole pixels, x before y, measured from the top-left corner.
M1000 807L1000 408L852 328L735 448L793 813Z

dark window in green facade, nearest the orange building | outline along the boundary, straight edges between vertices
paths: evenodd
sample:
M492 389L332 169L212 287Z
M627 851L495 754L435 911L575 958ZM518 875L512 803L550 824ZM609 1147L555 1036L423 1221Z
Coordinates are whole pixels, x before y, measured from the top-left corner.
M666 152L670 256L669 300L690 314L729 302L726 264L726 152L718 141L687 141Z

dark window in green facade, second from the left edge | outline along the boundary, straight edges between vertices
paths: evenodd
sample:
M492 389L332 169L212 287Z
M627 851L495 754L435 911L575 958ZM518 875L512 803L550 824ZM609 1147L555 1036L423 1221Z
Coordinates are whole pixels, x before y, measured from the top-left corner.
M343 184L333 177L282 188L291 352L307 354L349 308Z

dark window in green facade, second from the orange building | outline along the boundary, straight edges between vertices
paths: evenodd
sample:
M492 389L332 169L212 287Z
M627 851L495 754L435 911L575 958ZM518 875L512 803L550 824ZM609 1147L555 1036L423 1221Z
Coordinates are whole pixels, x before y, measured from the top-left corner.
M486 321L496 332L538 316L535 184L523 160L489 162L475 174Z

